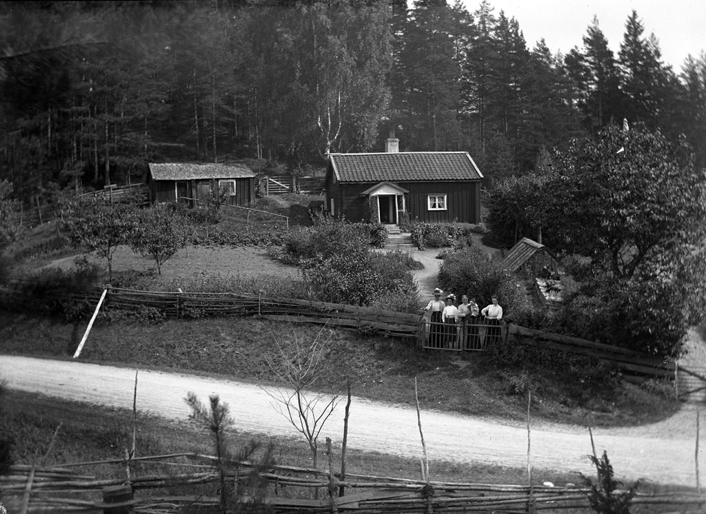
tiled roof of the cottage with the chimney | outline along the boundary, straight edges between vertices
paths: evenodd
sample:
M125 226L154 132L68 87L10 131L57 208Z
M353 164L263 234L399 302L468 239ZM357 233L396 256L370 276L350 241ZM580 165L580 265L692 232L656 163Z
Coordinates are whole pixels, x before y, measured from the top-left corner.
M339 182L427 182L480 180L483 175L467 152L330 154Z

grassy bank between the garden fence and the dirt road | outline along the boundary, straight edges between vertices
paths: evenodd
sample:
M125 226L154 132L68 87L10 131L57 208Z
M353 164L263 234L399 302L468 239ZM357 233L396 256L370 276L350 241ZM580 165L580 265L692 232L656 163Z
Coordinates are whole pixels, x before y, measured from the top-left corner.
M85 322L0 312L0 352L68 359ZM265 356L276 355L294 334L313 341L318 328L256 318L168 320L158 323L104 319L93 327L81 360L214 374L228 379L273 383ZM419 350L410 341L325 329L327 372L317 382L338 391L345 379L353 393L373 400L414 404L414 377L424 408L523 422L526 396L534 388L534 418L597 427L654 422L678 403L632 384L612 388L584 380L575 370L498 367L484 353ZM520 378L517 378L520 377ZM583 380L583 381L582 381ZM524 382L523 382L524 381Z

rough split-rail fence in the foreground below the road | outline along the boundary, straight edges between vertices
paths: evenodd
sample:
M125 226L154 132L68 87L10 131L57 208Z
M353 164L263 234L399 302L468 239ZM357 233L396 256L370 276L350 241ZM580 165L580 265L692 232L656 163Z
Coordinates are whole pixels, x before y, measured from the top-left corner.
M162 465L162 469L170 465L172 472L160 474L154 467L150 470L151 463ZM106 464L130 468L130 479L99 479L83 472L91 465ZM79 467L81 472L73 467ZM223 477L221 469L225 472ZM254 479L258 479L256 489L253 489ZM258 468L246 462L227 462L219 468L216 458L195 453L54 467L13 465L8 475L0 477L0 497L8 512L108 513L114 510L101 505L102 491L129 484L135 503L126 512L167 514L186 509L215 513L222 508L217 496L222 480L231 487L249 491L248 495L240 494L229 502L244 502L240 503L241 508L249 506L249 511L273 514L337 514L342 510L355 514L590 511L589 489L570 485L447 483L354 474L342 478L330 467L328 470L281 465ZM256 503L263 508L253 509ZM635 506L661 506L669 512L678 510L686 514L703 512L700 509L705 503L706 496L688 491L638 492L633 498ZM233 503L230 506L239 511Z

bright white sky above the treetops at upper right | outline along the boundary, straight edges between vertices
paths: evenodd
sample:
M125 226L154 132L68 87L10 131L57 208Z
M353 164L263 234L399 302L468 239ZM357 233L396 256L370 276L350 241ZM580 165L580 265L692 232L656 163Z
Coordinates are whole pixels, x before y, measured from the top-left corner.
M480 0L462 0L470 13ZM453 1L449 1L453 4ZM582 48L581 38L598 16L598 24L616 57L625 33L625 22L633 9L645 27L659 39L662 60L675 73L688 54L697 57L706 50L706 0L489 0L493 14L505 11L517 19L529 49L544 37L552 54Z

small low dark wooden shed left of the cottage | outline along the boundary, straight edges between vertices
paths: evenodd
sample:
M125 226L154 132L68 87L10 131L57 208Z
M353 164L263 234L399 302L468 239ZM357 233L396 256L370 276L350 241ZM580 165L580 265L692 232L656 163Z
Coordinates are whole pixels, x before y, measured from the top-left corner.
M247 205L255 200L255 173L244 164L150 163L150 200L186 202L208 196L211 181L229 190L227 203Z

